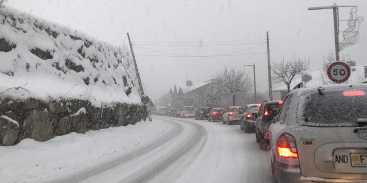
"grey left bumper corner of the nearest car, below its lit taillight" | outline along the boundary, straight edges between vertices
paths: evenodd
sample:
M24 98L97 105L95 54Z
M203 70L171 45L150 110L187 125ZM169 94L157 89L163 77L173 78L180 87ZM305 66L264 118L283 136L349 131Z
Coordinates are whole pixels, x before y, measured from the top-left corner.
M278 183L302 183L300 166L274 163L275 178Z

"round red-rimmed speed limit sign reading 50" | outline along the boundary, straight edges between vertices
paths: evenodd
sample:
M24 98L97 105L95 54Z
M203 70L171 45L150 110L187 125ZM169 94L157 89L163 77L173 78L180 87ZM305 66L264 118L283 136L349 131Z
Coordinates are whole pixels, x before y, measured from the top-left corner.
M344 62L333 62L328 68L328 76L336 83L343 83L351 76L351 68Z

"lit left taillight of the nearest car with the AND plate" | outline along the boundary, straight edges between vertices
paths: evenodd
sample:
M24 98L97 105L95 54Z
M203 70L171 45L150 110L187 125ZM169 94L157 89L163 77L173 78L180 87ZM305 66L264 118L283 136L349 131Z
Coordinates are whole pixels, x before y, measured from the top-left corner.
M290 134L282 134L277 141L278 156L283 158L298 158L296 140Z

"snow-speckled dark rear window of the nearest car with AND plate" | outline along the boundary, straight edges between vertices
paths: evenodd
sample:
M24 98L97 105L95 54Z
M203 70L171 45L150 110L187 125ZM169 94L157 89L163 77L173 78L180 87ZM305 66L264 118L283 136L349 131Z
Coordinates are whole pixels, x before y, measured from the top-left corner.
M357 120L367 119L366 94L345 96L343 91L333 91L311 94L305 99L304 114L299 120L305 126L355 127Z

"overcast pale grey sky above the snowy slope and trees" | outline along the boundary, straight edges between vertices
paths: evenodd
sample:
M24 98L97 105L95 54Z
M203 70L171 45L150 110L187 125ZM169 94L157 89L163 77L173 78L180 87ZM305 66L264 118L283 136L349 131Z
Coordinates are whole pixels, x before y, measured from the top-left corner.
M7 4L58 24L69 26L116 46L133 42L199 41L202 44L265 42L270 35L271 61L284 57L311 57L309 71L321 67L322 56L334 45L333 10L307 10L312 6L358 5L367 18L367 0L8 0ZM340 19L348 19L350 8L340 8ZM340 30L347 27L340 22ZM257 40L253 40L257 39ZM342 37L341 37L342 39ZM244 42L218 42L248 40ZM249 41L252 40L252 41ZM216 41L216 42L212 42ZM167 44L167 43L166 43ZM259 46L258 46L259 45ZM135 54L166 55L134 46ZM221 46L140 45L180 55L219 55L266 52L266 44ZM341 52L358 65L367 64L367 20L360 27L360 40ZM348 56L346 56L348 59ZM255 63L257 90L268 91L267 54L223 57L152 57L137 55L145 93L153 101L168 93L175 83L211 79L223 66L241 68ZM244 68L252 76L252 67Z

